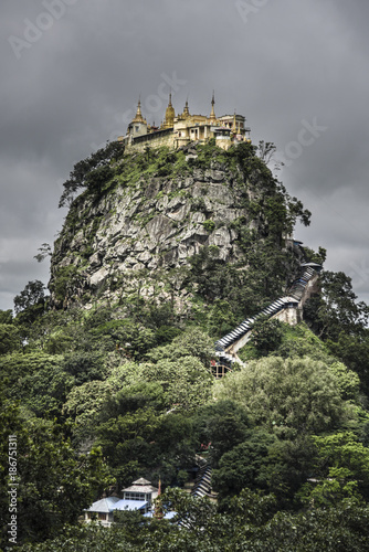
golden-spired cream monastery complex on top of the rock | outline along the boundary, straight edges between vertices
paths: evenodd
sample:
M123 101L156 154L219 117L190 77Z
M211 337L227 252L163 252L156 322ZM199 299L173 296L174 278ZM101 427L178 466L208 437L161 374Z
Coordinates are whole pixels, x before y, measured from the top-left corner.
M128 125L126 136L118 138L125 145L126 151L144 151L145 148L167 146L171 149L180 148L189 142L205 144L211 138L217 146L229 149L234 144L251 142L250 128L245 126L243 115L215 116L214 94L211 100L210 116L191 115L186 102L184 109L176 116L171 103L171 93L166 109L165 119L160 127L149 125L141 113L141 103L138 100L135 118Z

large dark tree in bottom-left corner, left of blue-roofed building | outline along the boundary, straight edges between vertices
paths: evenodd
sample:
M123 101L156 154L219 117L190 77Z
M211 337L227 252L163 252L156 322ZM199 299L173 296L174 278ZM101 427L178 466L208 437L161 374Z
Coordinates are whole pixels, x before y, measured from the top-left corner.
M67 428L55 422L15 420L8 431L17 434L18 542L44 540L65 523L76 524L110 482L101 450L77 455Z

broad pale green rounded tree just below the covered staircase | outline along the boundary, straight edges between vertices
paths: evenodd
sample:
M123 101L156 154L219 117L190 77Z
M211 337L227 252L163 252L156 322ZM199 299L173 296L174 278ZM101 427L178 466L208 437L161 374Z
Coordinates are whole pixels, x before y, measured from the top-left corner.
M323 362L268 357L217 382L214 395L241 404L250 420L284 438L337 428L355 417Z

